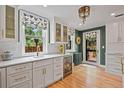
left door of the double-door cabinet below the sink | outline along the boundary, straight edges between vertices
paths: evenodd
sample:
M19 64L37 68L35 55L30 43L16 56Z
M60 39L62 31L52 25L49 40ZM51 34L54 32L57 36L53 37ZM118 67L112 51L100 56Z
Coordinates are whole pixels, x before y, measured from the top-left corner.
M44 87L44 71L42 67L33 70L33 88Z

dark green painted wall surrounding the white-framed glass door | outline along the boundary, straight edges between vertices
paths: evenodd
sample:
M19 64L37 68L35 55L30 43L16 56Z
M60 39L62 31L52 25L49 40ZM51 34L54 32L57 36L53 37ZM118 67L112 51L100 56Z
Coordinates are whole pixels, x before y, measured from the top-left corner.
M75 31L75 37L80 36L81 38L81 44L77 45L75 44L75 48L77 52L82 52L82 57L83 57L83 33L84 32L89 32L89 31L93 31L93 30L100 30L100 64L101 65L105 65L105 50L106 50L106 31L105 31L105 26L101 26L101 27L95 27L95 28L91 28L91 29L87 29L87 30L83 30L83 31ZM102 46L104 46L104 49L102 48Z

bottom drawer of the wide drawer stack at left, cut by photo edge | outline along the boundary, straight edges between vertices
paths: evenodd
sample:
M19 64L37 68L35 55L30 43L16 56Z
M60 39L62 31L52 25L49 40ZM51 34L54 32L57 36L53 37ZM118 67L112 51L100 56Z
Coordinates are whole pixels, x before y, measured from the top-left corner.
M32 88L32 81L31 80L25 81L10 88Z

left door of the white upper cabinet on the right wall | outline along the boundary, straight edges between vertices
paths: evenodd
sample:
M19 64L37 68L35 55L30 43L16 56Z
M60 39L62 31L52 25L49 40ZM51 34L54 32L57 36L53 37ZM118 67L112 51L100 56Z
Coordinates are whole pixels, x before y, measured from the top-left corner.
M106 27L107 43L118 42L118 23L111 23Z

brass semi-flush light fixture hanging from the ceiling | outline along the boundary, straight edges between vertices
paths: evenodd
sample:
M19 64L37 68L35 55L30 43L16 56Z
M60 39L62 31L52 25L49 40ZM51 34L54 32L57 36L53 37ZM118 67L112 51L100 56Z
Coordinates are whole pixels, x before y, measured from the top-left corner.
M79 18L85 23L87 17L90 15L90 7L89 6L82 6L78 10Z

